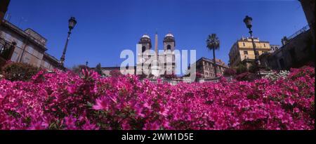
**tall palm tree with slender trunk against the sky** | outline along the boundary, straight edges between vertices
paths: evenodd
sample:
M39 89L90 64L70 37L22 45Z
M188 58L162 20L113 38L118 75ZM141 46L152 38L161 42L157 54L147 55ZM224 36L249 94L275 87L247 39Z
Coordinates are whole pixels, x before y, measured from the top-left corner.
M206 47L209 50L213 50L214 73L215 73L215 77L217 77L215 50L219 49L220 41L219 41L218 37L216 37L216 34L209 34L209 37L206 39Z

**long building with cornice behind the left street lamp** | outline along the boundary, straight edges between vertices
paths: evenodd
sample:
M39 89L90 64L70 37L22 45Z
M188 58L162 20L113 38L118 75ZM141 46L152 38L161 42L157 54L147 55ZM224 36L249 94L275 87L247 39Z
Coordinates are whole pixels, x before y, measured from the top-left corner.
M50 70L58 67L59 61L45 53L47 39L34 30L21 30L4 20L0 26L0 37L16 44L9 60L15 63L28 63L35 67L48 67Z

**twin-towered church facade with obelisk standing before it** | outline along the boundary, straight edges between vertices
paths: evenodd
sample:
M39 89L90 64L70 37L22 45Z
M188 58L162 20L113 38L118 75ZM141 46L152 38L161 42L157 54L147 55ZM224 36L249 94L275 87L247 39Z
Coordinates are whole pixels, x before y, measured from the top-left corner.
M154 50L152 40L148 34L138 41L136 74L145 74L147 77L161 77L162 75L176 74L176 40L170 32L163 40L163 50L158 50L158 34L154 36Z

